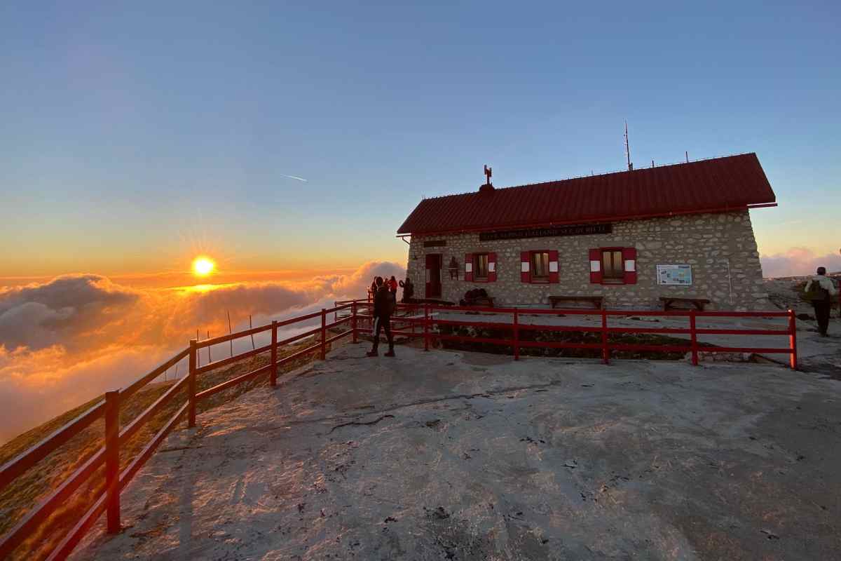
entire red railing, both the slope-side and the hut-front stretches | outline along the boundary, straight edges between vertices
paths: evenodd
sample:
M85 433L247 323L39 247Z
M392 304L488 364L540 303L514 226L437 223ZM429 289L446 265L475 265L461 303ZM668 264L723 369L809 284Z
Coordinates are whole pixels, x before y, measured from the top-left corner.
M85 430L88 426L98 419L104 419L105 433L103 437L103 446L93 453L82 465L77 468L67 479L65 479L56 490L54 490L45 499L41 500L38 505L35 505L25 516L2 538L0 538L0 558L5 558L9 553L12 553L24 540L33 534L33 532L44 523L56 509L61 506L79 487L84 484L91 476L96 473L98 468L105 466L105 490L97 497L93 505L79 518L77 524L71 528L63 537L59 545L50 552L49 559L66 558L71 553L77 543L84 537L84 535L93 527L98 517L102 515L103 511L107 511L107 528L108 532L119 532L120 523L120 506L119 495L125 486L129 484L130 480L137 474L140 468L155 452L156 448L163 442L164 438L177 426L178 422L182 420L184 415L187 415L188 426L196 426L196 409L198 402L209 398L211 395L217 394L224 389L231 388L237 384L246 382L261 376L262 374L269 374L269 383L272 386L277 385L277 370L283 364L294 361L297 358L304 357L309 354L318 352L320 359L324 360L327 350L327 345L333 341L338 341L343 337L351 336L353 342L357 342L360 333L370 332L371 323L370 314L362 314L361 310L368 311L373 307L370 299L364 300L346 300L337 302L336 306L331 309L323 309L320 312L312 314L301 315L288 320L272 321L269 325L262 325L254 327L246 331L238 331L236 333L214 337L205 341L190 341L188 348L178 352L174 357L162 363L161 366L155 368L150 373L145 374L133 384L130 384L125 389L109 391L105 394L105 399L93 405L90 409L78 415L76 419L70 421L65 426L62 426L57 431L50 434L38 444L30 447L24 453L19 454L16 458L8 461L0 466L0 491L8 486L14 479L24 474L29 468L32 468L35 463L45 458L51 452L54 452L62 444L68 442L72 437ZM339 316L339 312L350 310L349 315ZM473 312L494 315L510 315L510 321L473 321L464 319L447 319L446 316L441 316L436 312L446 311L452 312ZM327 315L334 314L334 321L327 323ZM542 325L523 323L523 315L588 315L599 316L600 325ZM669 318L685 317L689 320L689 326L686 328L680 327L616 327L609 325L611 317L622 316L665 316ZM698 318L711 317L785 317L787 318L787 325L785 329L723 329L723 328L698 328L696 320ZM287 325L294 325L299 322L320 319L320 325L313 329L309 329L298 335L288 337L278 341L278 329ZM349 323L350 327L346 331L341 331L339 334L327 337L327 332L333 328L339 327ZM474 326L474 327L495 327L511 331L510 338L489 338L489 337L474 337L474 336L458 336L436 332L433 330L435 326L443 325L460 325L460 326ZM429 350L431 343L435 340L443 341L463 341L463 342L484 342L496 345L510 346L514 354L515 360L520 358L520 351L523 347L550 347L550 348L576 348L576 349L600 349L602 360L608 363L611 358L611 351L628 350L628 351L677 351L677 352L691 352L692 363L698 363L699 346L697 336L699 335L754 335L754 336L788 336L789 346L785 348L763 348L763 347L715 347L716 352L763 352L763 353L782 353L790 357L791 368L796 368L797 365L797 347L796 347L796 325L795 315L791 310L780 312L700 312L695 310L686 311L618 311L618 310L546 310L546 309L522 309L522 308L477 308L477 307L458 307L458 306L442 306L436 304L398 304L393 317L394 335L408 336L408 337L422 337L424 340L425 350ZM409 330L410 331L407 331ZM239 337L253 336L258 333L271 331L271 343L257 347L247 352L223 358L215 362L198 367L198 351L204 347L210 347L219 343L233 341ZM598 343L584 343L584 342L563 342L563 341L526 341L521 339L522 331L578 331L578 332L592 332L600 333L600 342ZM690 341L688 345L637 345L637 344L621 344L611 342L609 335L621 333L661 333L674 335L689 335ZM318 336L318 342L310 347L306 347L298 352L294 352L286 357L278 359L278 349L294 342L300 341L310 336ZM216 368L221 368L232 363L245 360L246 358L256 357L268 352L270 354L269 363L266 366L257 368L249 373L242 374L236 378L232 378L211 388L198 391L198 376L208 373ZM137 415L134 420L130 421L122 429L119 427L119 410L120 405L125 403L132 394L135 394L139 389L149 384L152 380L165 373L168 368L172 368L175 364L188 358L189 368L188 375L185 378L177 380L172 387L161 395L152 405L147 407L140 415ZM150 442L145 444L140 450L140 453L125 467L119 471L119 452L120 447L124 447L129 439L140 431L140 428L145 426L151 418L156 415L161 409L176 399L177 394L181 394L186 390L187 396L185 402L177 409L174 415L170 417L167 422L156 432Z

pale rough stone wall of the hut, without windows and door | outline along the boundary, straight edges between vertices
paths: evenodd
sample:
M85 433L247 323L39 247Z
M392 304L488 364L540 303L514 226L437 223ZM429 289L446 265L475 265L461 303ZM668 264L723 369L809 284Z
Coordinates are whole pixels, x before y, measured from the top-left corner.
M446 240L445 247L423 246L425 240ZM637 248L636 284L590 283L588 250L595 247ZM521 283L520 251L558 250L559 282ZM497 281L467 283L464 255L495 251ZM609 308L661 309L659 297L710 299L712 310L768 310L759 252L747 210L720 214L687 214L671 218L613 223L611 234L558 236L521 240L479 241L479 234L412 238L408 274L415 295L426 294L426 253L442 254L442 299L458 303L471 288L485 288L497 305L545 307L548 296L601 295ZM458 280L451 279L451 257L459 264ZM690 264L690 286L661 286L658 264ZM729 270L728 270L729 267Z

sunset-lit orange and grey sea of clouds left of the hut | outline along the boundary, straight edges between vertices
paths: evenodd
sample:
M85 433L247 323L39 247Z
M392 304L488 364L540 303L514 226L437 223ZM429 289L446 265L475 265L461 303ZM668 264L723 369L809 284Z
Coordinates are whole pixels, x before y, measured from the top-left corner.
M227 333L229 313L238 331L249 315L256 326L330 308L336 299L364 298L376 275L403 278L405 268L368 262L304 283L235 283L204 292L130 288L96 274L0 288L0 443L124 387L185 347L197 329L202 339L208 331ZM267 342L258 336L257 345ZM233 350L246 348L250 339L235 341ZM218 360L230 347L212 352Z

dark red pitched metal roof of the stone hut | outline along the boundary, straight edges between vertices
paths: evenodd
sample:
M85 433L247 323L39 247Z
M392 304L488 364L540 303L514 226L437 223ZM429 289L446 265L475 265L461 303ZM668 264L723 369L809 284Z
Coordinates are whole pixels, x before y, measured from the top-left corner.
M756 154L426 198L397 230L465 230L630 220L775 204Z

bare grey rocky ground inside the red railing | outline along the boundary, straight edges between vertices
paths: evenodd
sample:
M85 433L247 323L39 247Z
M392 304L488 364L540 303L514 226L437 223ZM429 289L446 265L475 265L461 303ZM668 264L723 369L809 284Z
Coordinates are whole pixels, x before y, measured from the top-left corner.
M829 559L841 383L362 344L178 431L78 559Z

